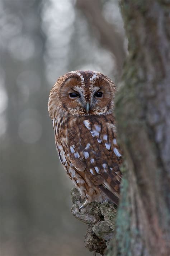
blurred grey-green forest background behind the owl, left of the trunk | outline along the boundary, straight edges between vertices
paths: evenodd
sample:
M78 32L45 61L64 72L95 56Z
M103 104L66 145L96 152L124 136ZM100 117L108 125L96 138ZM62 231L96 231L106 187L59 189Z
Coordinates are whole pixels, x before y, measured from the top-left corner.
M0 255L88 256L47 102L58 76L118 81L127 52L117 0L0 1Z

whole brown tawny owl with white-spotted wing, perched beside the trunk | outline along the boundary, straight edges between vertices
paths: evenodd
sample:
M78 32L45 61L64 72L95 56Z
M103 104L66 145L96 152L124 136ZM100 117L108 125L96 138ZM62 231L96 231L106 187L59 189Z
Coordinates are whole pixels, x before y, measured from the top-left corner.
M51 89L48 111L59 158L79 189L84 208L90 202L118 205L122 150L114 118L116 87L95 71L72 71Z

